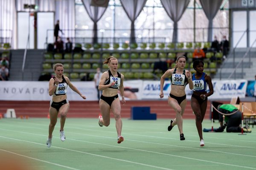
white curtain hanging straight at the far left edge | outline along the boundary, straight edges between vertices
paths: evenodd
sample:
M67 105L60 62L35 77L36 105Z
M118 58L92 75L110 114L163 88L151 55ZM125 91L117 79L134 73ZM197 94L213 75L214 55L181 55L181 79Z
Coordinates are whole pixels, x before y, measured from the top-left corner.
M0 0L0 43L10 43L14 49L17 48L16 16L15 0Z

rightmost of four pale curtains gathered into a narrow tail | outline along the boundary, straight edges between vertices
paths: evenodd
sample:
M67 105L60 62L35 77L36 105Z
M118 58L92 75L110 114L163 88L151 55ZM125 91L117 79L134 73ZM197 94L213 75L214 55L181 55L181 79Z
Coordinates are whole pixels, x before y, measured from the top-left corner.
M204 10L205 15L207 16L208 23L208 42L212 42L212 20L217 14L222 0L200 0L201 6Z

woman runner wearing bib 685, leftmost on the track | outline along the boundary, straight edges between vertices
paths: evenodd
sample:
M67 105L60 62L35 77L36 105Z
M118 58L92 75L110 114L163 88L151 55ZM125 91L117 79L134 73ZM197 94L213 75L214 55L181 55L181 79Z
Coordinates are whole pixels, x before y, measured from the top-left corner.
M70 82L70 79L63 75L64 67L61 63L56 63L53 67L55 77L49 80L49 95L52 96L49 108L50 124L49 124L49 136L47 139L47 147L52 145L52 132L57 123L58 113L61 115L61 127L60 138L64 142L66 136L64 134L64 125L69 111L69 102L67 100L67 86L86 99L84 95Z

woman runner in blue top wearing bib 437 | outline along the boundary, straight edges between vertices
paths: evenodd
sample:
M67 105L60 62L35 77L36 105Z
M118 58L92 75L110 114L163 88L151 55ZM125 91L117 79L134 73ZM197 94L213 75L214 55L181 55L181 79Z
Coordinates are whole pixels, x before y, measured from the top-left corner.
M207 109L207 97L213 94L212 79L209 75L204 73L204 62L197 59L193 62L193 68L196 73L192 74L193 94L191 96L191 108L195 114L195 125L198 130L200 139L200 146L204 146L202 122L204 120ZM207 85L209 92L207 93Z

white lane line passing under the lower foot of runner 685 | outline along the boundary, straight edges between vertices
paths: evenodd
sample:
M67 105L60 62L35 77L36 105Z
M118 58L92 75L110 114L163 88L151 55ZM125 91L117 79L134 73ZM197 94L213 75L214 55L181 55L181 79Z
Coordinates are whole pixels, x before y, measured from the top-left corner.
M6 138L6 139L12 139L12 140L16 140L16 141L21 141L21 142L40 144L40 145L44 145L46 147L46 144L41 144L41 143L37 143L37 142L31 142L31 141L26 141L26 140L21 140L21 139L9 138L9 137L5 137L5 136L0 136L0 137ZM78 153L85 153L87 155L99 156L99 157L102 157L102 158L113 159L113 160L117 160L117 161L124 161L124 162L132 163L132 164L139 164L139 165L143 165L143 166L147 166L147 167L154 167L154 168L158 168L158 169L162 169L162 170L173 170L173 169L169 169L169 168L157 167L157 166L154 166L154 165L143 164L143 163L128 161L128 160L124 160L124 159L117 159L117 158L112 158L112 157L108 157L108 156L97 155L97 154L83 152L83 151L79 151L79 150L67 149L67 148L64 148L64 147L56 147L56 146L51 146L51 147L55 147L55 148L63 149L63 150L69 150L69 151L78 152Z

